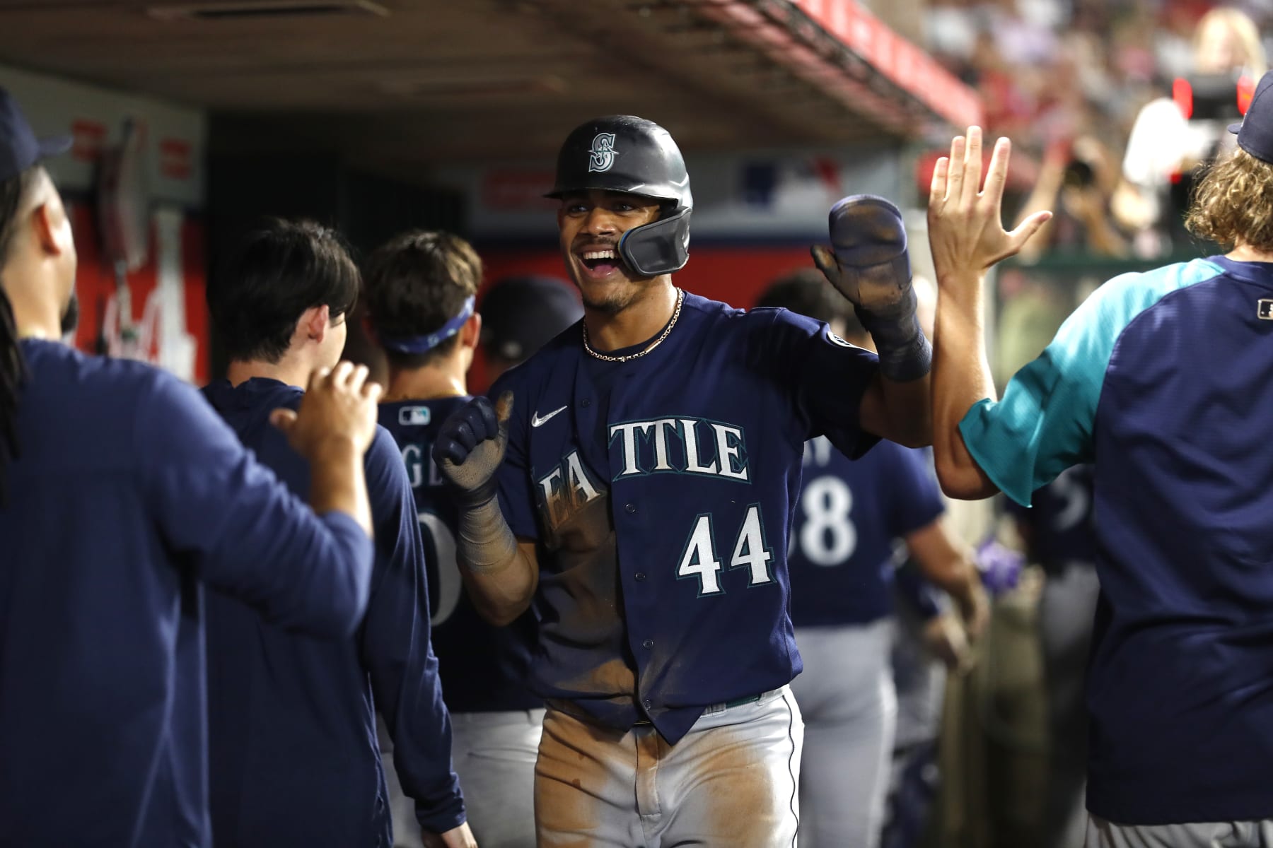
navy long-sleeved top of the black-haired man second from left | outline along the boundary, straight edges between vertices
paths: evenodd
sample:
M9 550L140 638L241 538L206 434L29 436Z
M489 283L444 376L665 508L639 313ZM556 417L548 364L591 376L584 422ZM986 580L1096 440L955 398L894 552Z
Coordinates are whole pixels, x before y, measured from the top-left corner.
M270 423L303 392L255 378L204 394L294 491L309 464ZM367 451L376 564L353 639L272 627L232 598L207 598L213 835L218 844L391 845L376 711L402 788L435 833L465 821L451 770L451 720L429 646L424 551L406 469L383 428Z

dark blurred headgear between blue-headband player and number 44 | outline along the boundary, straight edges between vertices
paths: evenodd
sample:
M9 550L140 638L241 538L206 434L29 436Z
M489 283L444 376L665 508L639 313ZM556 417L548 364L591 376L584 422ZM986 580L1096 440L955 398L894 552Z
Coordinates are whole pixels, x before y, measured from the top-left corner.
M481 301L481 343L488 352L521 362L583 318L569 284L547 276L509 277Z

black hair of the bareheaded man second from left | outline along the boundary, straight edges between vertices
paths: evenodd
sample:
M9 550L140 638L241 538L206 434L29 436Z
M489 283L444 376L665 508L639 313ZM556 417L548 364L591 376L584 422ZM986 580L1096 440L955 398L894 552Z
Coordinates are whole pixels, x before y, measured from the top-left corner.
M358 303L358 266L345 240L314 221L267 219L239 240L207 286L213 329L232 360L278 362L300 315L336 319Z

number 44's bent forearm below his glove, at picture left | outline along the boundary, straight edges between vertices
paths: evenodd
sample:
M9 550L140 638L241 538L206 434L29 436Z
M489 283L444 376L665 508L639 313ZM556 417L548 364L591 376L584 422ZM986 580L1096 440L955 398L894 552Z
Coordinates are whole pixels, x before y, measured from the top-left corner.
M457 556L468 598L491 624L503 627L524 613L538 585L538 570L489 500L460 514Z

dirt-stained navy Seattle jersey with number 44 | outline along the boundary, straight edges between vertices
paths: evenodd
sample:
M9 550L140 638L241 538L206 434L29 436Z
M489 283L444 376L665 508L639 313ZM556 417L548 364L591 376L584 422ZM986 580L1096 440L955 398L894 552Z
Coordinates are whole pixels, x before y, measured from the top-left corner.
M538 543L540 694L676 742L705 707L789 683L801 454L822 434L875 442L858 406L876 370L825 324L686 295L645 356L594 359L575 324L502 376L500 503Z

